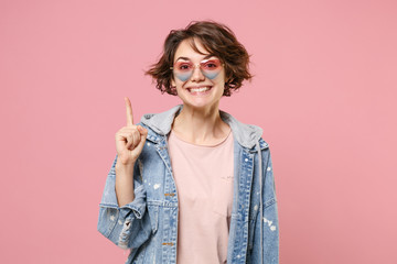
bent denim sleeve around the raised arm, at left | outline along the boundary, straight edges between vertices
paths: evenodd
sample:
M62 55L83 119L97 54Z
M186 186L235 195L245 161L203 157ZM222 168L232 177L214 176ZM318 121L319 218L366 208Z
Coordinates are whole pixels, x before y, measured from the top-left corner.
M121 249L139 248L149 239L151 224L146 205L146 190L142 185L139 160L133 168L135 199L122 207L116 197L116 158L106 179L105 190L99 204L98 231Z

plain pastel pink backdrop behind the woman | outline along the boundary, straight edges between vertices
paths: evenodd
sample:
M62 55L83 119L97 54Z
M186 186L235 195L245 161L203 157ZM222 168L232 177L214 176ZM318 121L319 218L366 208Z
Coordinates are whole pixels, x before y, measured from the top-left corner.
M222 109L264 128L280 263L397 263L397 3L0 2L0 263L124 263L96 231L125 125L180 101L143 76L191 20L229 25L253 82Z

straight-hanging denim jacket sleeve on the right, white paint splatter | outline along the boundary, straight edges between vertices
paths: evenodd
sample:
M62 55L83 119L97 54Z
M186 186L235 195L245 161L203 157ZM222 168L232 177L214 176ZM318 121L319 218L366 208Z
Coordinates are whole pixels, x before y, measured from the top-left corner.
M253 255L260 263L260 251L262 251L262 263L279 263L279 221L276 198L276 184L269 148L262 152L262 213L257 215L254 234ZM262 226L261 226L262 224ZM260 227L261 226L261 227ZM260 230L262 241L260 241Z

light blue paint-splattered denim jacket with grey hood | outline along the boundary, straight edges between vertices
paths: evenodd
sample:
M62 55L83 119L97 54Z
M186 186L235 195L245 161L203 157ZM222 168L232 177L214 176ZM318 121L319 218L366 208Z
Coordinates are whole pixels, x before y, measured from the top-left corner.
M158 114L144 114L148 129L144 147L133 168L135 200L118 206L115 166L108 174L99 205L98 231L121 249L129 249L126 263L176 262L178 191L168 153L168 134L176 106ZM219 111L234 135L234 189L227 263L279 261L278 210L268 144L262 130L243 124ZM192 249L194 254L194 249Z

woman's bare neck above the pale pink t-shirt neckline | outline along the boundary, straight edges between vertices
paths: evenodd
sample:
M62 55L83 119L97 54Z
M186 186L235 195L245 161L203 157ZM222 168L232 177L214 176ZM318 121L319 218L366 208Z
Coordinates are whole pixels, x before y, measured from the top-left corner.
M211 145L224 140L230 129L221 119L218 106L196 109L184 105L174 119L172 131L193 144Z

